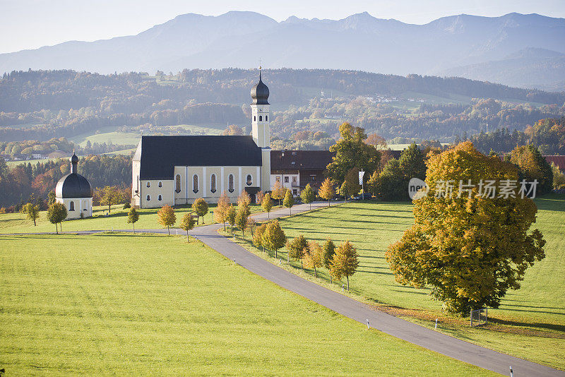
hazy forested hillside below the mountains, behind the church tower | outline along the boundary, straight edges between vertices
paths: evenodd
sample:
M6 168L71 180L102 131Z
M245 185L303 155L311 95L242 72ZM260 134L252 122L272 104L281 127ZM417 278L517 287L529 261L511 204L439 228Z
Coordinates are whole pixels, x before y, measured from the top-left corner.
M249 90L257 75L234 68L157 76L12 72L0 79L0 141L108 130L171 133L167 127L186 124L249 126ZM331 138L344 120L385 138L453 140L496 128L523 131L539 119L565 114L563 92L463 78L323 69L266 70L263 78L271 93L275 140L293 139L299 131L326 133L316 140Z

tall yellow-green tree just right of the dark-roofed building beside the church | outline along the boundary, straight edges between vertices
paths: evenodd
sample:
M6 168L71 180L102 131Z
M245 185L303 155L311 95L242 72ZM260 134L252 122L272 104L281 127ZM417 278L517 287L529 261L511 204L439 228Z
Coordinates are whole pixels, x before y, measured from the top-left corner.
M345 174L350 169L357 168L372 174L379 165L379 151L373 145L367 145L365 131L345 122L340 125L340 139L330 147L335 153L332 162L328 164L328 176L335 181L345 181Z

